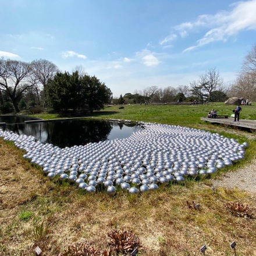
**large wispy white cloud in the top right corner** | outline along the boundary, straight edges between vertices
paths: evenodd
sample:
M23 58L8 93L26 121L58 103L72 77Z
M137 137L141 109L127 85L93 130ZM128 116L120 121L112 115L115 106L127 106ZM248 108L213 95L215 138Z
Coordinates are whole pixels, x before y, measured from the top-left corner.
M232 5L230 12L220 11L215 15L198 16L195 22L182 23L175 29L182 34L188 34L188 30L198 30L207 27L209 30L197 44L184 49L191 51L215 41L226 41L232 35L241 30L256 30L256 0L237 2Z

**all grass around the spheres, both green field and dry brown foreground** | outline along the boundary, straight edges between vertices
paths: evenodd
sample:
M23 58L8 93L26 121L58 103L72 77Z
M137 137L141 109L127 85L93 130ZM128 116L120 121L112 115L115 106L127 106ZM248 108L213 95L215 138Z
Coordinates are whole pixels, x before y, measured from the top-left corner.
M200 120L212 108L217 109L219 114L230 114L234 106L223 103L124 106L124 109L119 109L120 106L106 107L94 112L93 118L195 127L235 138L240 143L248 141L246 158L218 170L212 177L241 169L255 157L256 139L251 131ZM48 113L33 116L43 119L62 117ZM256 119L256 106L243 106L241 119ZM36 246L42 249L44 255L58 255L68 244L80 240L88 240L97 248L106 248L106 233L116 227L129 227L136 233L141 241L141 256L199 255L203 244L207 245L205 255L233 255L229 247L233 240L237 243L237 255L255 255L255 197L246 191L222 187L212 191L209 187L211 179L204 178L199 182L187 179L183 184L163 185L158 190L138 195L123 191L118 191L116 195L81 193L67 182L48 180L42 176L40 170L22 158L23 152L13 143L0 140L0 147L1 153L5 152L0 156L2 166L7 160L10 161L9 169L0 176L0 182L8 178L12 193L16 193L12 198L5 193L1 195L5 203L0 215L2 255L32 255ZM16 170L22 180L34 180L30 186L26 184L29 186L26 190L19 189L22 181L9 177L16 166L22 166ZM16 172L13 172L13 177ZM27 193L34 190L35 184L40 184L36 194ZM186 201L194 201L200 204L200 208L190 209ZM226 202L237 201L250 205L254 219L238 218L224 207Z

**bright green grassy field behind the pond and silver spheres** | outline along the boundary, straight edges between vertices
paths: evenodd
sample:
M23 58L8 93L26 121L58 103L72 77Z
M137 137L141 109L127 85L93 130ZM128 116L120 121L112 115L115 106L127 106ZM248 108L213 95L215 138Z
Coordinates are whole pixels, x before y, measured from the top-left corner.
M165 123L168 125L181 126L198 126L205 124L201 121L201 117L208 115L212 108L218 111L219 115L231 115L233 105L225 105L223 103L210 103L208 105L140 105L131 104L123 105L123 109L119 109L120 105L106 106L102 111L94 112L93 116L96 119L128 119L133 122L156 122ZM42 119L68 118L70 113L66 115L58 115L53 113L40 113L30 115ZM256 106L243 106L240 114L241 119L256 119Z

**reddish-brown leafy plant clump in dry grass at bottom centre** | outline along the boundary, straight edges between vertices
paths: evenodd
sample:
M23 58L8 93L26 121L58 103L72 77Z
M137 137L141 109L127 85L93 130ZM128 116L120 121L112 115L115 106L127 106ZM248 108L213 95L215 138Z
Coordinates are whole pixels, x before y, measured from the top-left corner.
M118 253L127 253L133 251L140 244L138 237L126 229L114 229L108 233L109 244L115 248Z

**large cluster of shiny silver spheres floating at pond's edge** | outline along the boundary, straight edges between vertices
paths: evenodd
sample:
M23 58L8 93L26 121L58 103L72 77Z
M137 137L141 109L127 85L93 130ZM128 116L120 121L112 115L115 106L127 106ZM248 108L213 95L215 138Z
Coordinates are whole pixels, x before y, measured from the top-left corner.
M244 158L239 144L208 131L140 122L144 129L129 138L59 148L32 136L0 130L0 137L26 151L24 158L48 177L69 180L88 192L155 190L161 183L183 182L186 176L211 175Z

